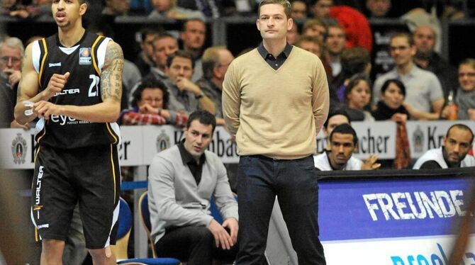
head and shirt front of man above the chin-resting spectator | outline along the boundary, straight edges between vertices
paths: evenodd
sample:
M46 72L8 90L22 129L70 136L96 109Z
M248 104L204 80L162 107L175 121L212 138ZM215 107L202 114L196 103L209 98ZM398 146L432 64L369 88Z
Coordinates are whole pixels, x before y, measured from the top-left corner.
M199 18L189 19L183 24L180 33L183 42L183 50L193 55L195 62L192 81L197 81L203 75L203 67L201 66L201 56L203 55L203 46L206 39L206 25Z

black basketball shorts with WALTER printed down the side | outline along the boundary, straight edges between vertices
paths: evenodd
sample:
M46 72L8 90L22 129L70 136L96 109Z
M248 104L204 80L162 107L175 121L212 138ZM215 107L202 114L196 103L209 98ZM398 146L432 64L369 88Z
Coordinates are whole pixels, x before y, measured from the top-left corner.
M116 243L121 171L117 147L60 150L40 145L35 154L31 220L40 239L66 240L74 207L88 249Z

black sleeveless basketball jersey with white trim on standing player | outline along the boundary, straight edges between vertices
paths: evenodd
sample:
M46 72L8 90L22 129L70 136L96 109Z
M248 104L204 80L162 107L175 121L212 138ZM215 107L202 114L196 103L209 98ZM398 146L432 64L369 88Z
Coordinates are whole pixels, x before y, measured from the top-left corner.
M46 89L53 74L69 72L60 93L50 101L57 105L90 106L101 103L101 67L110 39L86 31L79 43L61 47L57 34L33 45L33 65L38 72L39 91ZM37 124L36 141L62 149L92 145L116 145L120 141L116 123L91 123L65 115L51 115Z

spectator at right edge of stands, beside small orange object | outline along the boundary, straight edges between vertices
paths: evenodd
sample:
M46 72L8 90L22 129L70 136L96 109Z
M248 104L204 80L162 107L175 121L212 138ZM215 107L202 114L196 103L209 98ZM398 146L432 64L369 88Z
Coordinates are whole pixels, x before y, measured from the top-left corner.
M458 108L457 120L475 120L475 59L465 59L459 64L459 89L454 103ZM450 115L447 106L441 117Z

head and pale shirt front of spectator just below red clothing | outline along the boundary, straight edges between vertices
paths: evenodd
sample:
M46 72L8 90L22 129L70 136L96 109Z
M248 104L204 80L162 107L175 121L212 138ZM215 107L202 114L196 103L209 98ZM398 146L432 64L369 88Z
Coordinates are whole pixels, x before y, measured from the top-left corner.
M334 24L328 26L328 35L325 39L325 44L327 45L328 60L330 61L330 66L332 67L333 77L336 77L338 74L340 74L342 70L341 55L343 49L345 48L346 42L347 40L345 36L345 30L343 30L340 25Z

